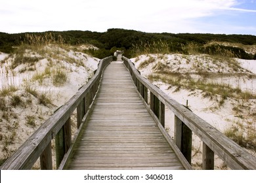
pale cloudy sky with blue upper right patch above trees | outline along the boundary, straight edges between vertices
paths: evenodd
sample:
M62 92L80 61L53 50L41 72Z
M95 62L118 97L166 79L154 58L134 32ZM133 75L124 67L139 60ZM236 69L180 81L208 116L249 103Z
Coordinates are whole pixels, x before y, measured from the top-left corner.
M256 0L0 0L0 32L110 28L256 35Z

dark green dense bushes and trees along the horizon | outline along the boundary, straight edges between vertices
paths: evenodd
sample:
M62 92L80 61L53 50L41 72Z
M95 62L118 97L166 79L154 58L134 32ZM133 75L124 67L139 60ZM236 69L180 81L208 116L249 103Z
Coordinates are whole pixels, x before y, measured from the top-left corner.
M30 33L43 37L45 34L53 34L56 41L62 37L67 44L93 44L99 50L87 50L93 56L104 58L112 55L117 49L125 50L125 56L131 58L135 54L136 46L148 47L149 45L162 44L168 52L180 52L188 54L186 45L196 44L198 52L217 54L228 50L234 56L244 59L255 59L256 55L247 54L242 48L232 46L204 46L209 41L233 42L245 45L256 44L256 36L253 35L217 35L217 34L190 34L190 33L144 33L141 31L126 29L108 29L104 33L92 31L47 31L44 33ZM0 52L11 53L15 46L26 42L28 33L0 33ZM167 48L167 49L166 49Z

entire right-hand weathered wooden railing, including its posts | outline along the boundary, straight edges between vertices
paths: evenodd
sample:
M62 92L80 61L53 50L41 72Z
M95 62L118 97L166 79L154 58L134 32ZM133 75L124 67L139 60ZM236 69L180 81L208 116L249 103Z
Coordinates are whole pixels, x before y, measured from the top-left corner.
M131 73L141 97L150 108L161 129L164 130L165 128L165 107L168 107L175 114L174 142L188 163L191 163L193 132L203 141L203 169L214 169L214 155L217 154L230 169L256 170L256 158L254 156L140 76L131 60L125 57L122 59ZM148 101L148 92L150 92L150 101Z

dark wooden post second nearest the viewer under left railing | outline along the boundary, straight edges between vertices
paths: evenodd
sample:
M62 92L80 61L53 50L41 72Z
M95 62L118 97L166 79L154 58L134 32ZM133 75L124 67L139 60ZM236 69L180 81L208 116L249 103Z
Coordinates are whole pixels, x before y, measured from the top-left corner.
M64 155L68 152L71 145L71 123L70 118L66 121L63 127L58 131L55 137L56 148L56 169L58 169Z

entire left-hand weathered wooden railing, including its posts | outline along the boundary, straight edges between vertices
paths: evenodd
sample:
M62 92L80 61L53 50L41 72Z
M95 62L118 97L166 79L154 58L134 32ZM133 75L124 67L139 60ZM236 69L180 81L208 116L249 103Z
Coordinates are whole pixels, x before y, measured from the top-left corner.
M95 75L85 86L51 116L20 148L7 159L1 169L32 169L40 158L41 169L53 169L51 142L55 139L56 169L72 146L70 116L77 109L77 133L81 129L83 119L89 112L95 93L98 90L102 71L112 61L112 56L100 60ZM75 136L74 135L74 136ZM75 138L74 138L75 139Z

